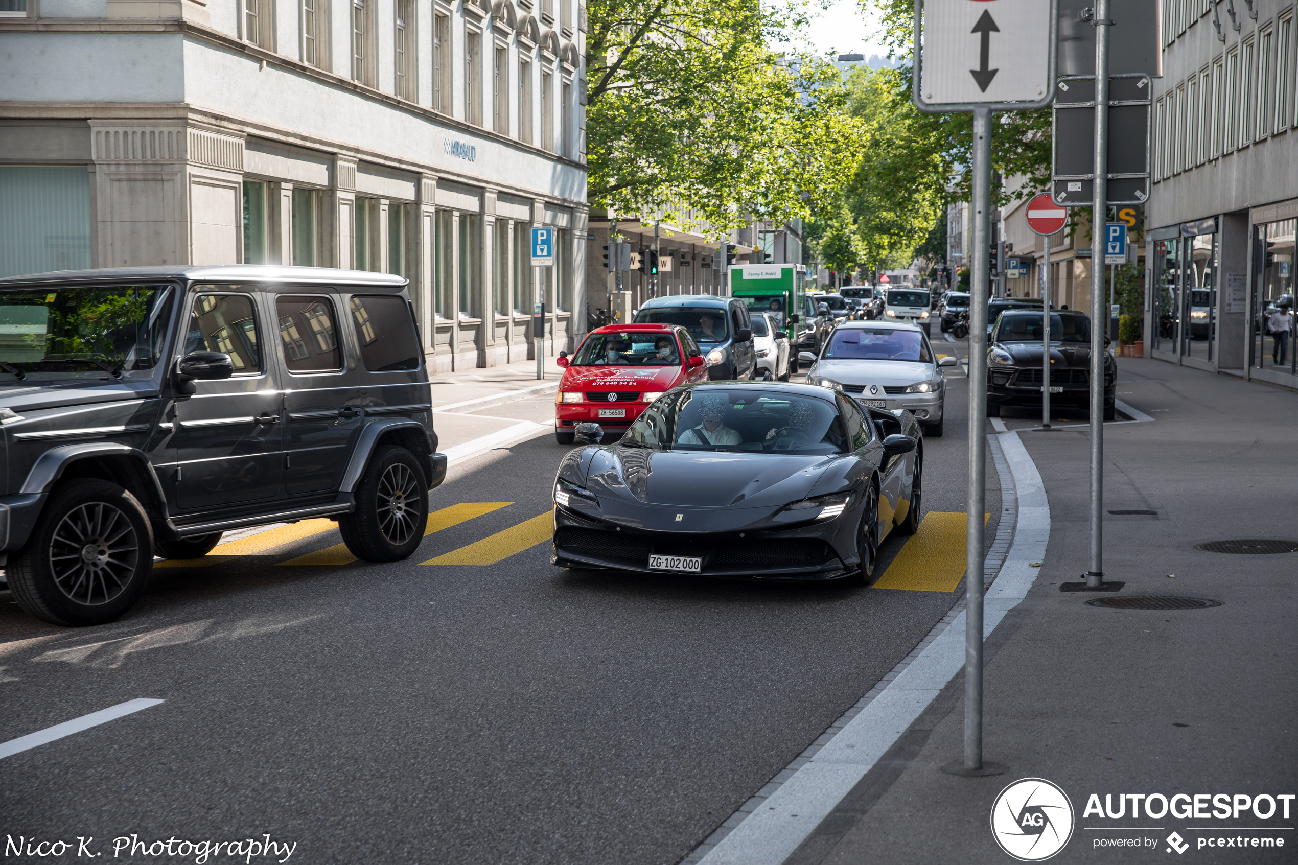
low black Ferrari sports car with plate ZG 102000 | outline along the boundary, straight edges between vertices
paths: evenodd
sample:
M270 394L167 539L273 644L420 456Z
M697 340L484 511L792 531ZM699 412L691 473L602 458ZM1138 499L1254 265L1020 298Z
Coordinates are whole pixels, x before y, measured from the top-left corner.
M550 562L870 582L879 543L919 528L922 460L909 412L813 385L683 385L563 458Z

